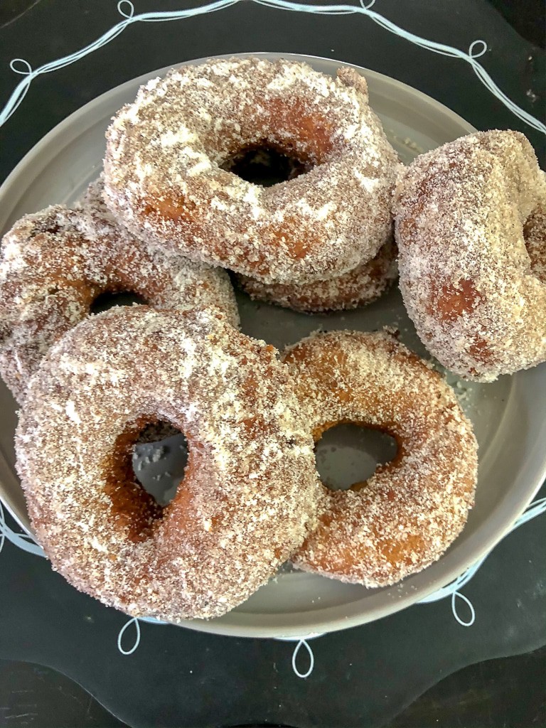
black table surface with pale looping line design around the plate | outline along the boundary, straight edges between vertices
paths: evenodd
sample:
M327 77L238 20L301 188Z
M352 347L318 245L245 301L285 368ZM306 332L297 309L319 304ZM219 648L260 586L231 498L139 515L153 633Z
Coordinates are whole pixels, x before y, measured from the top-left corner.
M142 0L135 7L146 12L198 4ZM500 12L485 0L378 0L374 9L462 50L486 40L480 63L515 103L542 118L544 4L494 5ZM4 1L0 106L18 80L8 70L12 58L36 68L118 21L112 0ZM183 60L251 50L373 68L440 100L478 129L521 130L545 158L544 137L461 60L432 55L364 17L311 16L243 2L191 20L132 25L87 58L40 76L0 129L0 180L45 132L109 88ZM290 644L180 628L143 625L138 650L123 657L116 638L126 617L76 593L46 561L6 544L0 554L0 725L543 726L544 537L538 518L496 547L464 587L477 614L471 628L454 621L449 600L416 605L315 640L316 664L306 680L291 671Z

